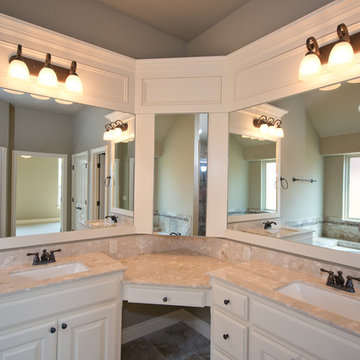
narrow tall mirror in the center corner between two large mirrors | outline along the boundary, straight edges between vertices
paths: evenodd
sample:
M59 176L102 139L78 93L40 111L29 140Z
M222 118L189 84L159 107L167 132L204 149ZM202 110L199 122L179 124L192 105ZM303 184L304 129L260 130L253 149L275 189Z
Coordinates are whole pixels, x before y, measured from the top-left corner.
M207 114L155 116L153 231L205 235Z

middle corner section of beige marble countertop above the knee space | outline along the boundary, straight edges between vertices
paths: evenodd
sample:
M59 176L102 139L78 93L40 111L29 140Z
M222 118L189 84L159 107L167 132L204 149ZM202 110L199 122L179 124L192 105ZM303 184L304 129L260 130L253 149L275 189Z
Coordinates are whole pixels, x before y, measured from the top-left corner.
M121 259L124 282L210 289L207 272L229 263L189 250L173 250Z

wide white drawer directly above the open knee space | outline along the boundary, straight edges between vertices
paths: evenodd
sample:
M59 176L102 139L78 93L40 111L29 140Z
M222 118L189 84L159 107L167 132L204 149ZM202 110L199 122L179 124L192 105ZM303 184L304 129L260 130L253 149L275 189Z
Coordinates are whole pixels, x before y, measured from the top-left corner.
M153 286L124 286L124 300L132 303L205 306L205 291Z

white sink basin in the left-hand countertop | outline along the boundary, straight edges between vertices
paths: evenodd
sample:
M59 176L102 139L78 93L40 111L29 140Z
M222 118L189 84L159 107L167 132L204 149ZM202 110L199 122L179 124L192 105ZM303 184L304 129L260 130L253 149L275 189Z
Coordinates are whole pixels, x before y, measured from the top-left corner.
M41 266L37 265L36 268L31 270L13 272L10 274L10 277L12 279L44 280L89 270L87 266L80 262Z

